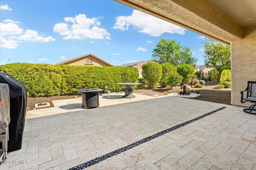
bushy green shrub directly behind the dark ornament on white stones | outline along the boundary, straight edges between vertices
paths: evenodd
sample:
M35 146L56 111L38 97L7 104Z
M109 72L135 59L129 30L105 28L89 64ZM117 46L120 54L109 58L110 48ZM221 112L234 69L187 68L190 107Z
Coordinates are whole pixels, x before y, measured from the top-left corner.
M182 84L190 84L192 78L195 76L195 69L190 64L178 65L177 72L183 77Z

